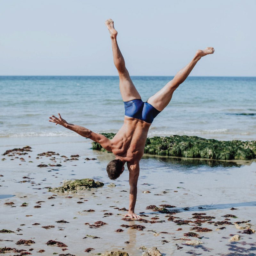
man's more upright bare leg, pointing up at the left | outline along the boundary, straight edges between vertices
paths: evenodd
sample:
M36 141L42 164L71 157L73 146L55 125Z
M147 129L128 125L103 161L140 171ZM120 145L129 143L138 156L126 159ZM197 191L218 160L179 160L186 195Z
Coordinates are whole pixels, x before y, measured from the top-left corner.
M129 72L125 67L124 57L118 47L116 41L117 31L114 28L114 21L109 19L106 20L105 24L109 30L111 37L114 64L117 68L119 75L119 87L123 101L141 99L139 92L132 83L132 79L129 75Z

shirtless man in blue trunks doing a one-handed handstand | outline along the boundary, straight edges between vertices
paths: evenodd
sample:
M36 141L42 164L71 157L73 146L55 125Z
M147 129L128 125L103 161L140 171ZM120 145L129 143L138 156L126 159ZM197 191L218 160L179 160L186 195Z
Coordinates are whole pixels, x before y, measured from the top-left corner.
M148 129L153 119L168 105L172 99L172 93L178 86L185 81L189 73L195 67L198 60L207 54L214 52L213 47L207 47L205 50L198 50L195 57L182 68L174 78L168 82L159 92L150 97L148 101L141 100L139 92L132 83L122 53L117 45L117 31L114 28L113 20L105 22L111 38L114 64L117 68L120 79L120 92L124 101L125 116L124 124L116 133L112 140L104 135L90 131L87 128L67 123L59 114L49 117L50 122L60 124L83 137L89 138L100 143L107 151L112 152L116 158L108 163L107 172L111 180L117 179L124 171L124 164L127 163L129 170L129 211L125 217L139 219L134 213L137 197L137 181L140 172L140 159L143 156L145 143L148 135Z

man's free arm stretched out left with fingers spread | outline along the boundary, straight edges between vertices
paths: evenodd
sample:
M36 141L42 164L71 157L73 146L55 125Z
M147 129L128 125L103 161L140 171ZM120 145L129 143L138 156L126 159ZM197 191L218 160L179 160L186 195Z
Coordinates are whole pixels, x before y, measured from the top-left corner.
M63 127L67 128L67 129L69 129L71 131L74 131L74 132L78 133L79 135L81 135L81 136L83 136L85 138L89 138L89 139L91 139L91 140L93 140L95 142L98 142L98 143L100 143L100 145L103 148L105 148L106 150L112 152L111 143L110 143L110 140L107 137L105 137L102 134L92 132L91 130L89 130L89 129L85 128L85 127L82 127L82 126L79 126L79 125L75 125L75 124L69 124L66 120L64 120L60 116L60 113L58 115L59 115L59 118L56 117L56 116L49 117L50 118L49 122L55 123L56 125L60 124Z

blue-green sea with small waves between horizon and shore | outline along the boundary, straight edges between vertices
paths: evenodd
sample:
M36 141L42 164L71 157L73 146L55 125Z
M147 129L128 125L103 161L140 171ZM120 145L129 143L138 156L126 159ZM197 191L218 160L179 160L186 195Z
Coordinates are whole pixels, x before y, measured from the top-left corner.
M133 76L143 101L172 77ZM255 140L256 77L188 77L148 136ZM117 132L124 103L117 76L0 76L0 137L77 136L48 122L58 113L94 132Z

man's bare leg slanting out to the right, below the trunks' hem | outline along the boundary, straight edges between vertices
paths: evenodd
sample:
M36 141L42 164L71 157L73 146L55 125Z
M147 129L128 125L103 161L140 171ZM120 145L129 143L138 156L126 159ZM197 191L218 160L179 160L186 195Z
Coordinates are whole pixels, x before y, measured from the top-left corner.
M171 101L173 92L182 84L192 69L196 66L198 60L207 54L214 52L213 47L207 47L205 50L198 50L195 57L185 68L182 68L174 78L168 82L159 92L148 99L148 103L159 111L162 111Z

